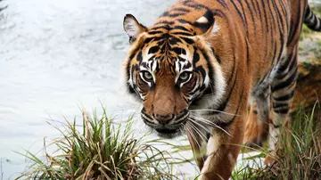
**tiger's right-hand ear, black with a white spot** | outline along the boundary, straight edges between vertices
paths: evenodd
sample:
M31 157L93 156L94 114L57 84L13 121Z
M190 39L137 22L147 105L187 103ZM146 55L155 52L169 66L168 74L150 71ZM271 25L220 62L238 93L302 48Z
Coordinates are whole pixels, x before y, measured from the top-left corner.
M207 37L210 35L214 27L214 13L211 11L205 12L201 18L195 21L194 26L198 29L197 34Z

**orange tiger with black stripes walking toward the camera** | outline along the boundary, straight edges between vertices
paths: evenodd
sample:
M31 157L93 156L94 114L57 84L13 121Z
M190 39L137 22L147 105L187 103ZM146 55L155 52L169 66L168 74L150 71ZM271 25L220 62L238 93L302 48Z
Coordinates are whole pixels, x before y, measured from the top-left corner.
M198 179L228 179L251 100L274 157L292 107L302 25L321 31L320 22L308 0L180 0L150 28L126 14L128 93L148 127L187 136Z

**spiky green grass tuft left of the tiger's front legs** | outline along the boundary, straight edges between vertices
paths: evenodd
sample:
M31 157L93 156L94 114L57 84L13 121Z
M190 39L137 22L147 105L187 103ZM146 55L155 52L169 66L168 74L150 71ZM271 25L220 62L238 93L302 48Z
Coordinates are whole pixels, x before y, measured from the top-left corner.
M32 164L17 179L177 179L172 175L169 154L142 143L141 136L134 138L127 125L114 127L105 111L101 118L95 113L93 119L84 113L82 128L73 123L55 127L62 137L49 146L45 160L27 151L22 154Z

